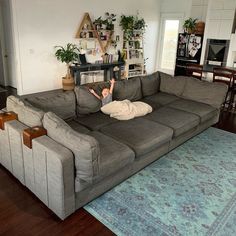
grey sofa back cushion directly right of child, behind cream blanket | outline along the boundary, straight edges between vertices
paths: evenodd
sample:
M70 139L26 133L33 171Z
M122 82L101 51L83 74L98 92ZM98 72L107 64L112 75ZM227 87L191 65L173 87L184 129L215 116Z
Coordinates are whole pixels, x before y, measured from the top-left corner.
M113 100L122 101L128 99L130 101L137 101L141 98L142 90L139 77L116 81L113 90Z

